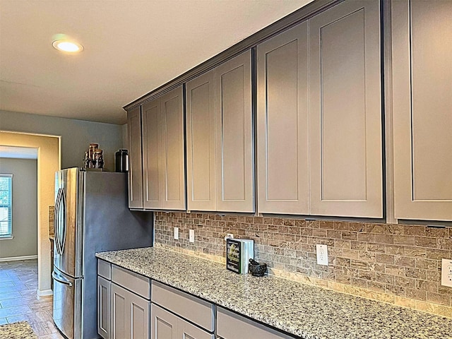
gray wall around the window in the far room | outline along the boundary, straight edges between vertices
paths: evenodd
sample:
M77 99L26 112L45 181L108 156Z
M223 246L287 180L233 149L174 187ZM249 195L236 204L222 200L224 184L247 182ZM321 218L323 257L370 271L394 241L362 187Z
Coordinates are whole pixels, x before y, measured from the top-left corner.
M0 240L0 258L37 255L37 160L0 158L13 174L13 239Z

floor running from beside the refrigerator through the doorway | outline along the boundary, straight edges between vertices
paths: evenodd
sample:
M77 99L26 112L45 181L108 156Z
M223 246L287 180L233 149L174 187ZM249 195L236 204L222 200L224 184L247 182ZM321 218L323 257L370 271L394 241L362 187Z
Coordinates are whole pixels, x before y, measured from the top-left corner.
M52 321L52 296L37 296L37 260L0 262L0 325L28 321L40 339L64 339Z

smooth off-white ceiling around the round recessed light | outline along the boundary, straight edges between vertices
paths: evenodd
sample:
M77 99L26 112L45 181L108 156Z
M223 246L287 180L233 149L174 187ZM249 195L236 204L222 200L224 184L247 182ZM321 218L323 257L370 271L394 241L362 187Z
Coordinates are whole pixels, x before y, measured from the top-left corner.
M0 0L0 109L124 124L124 105L311 1Z

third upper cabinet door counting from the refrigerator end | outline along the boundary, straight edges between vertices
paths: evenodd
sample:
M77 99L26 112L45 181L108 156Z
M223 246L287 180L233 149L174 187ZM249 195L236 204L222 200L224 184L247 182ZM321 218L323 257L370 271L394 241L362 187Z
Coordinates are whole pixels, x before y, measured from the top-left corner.
M184 107L182 87L163 95L161 101L161 206L185 208Z

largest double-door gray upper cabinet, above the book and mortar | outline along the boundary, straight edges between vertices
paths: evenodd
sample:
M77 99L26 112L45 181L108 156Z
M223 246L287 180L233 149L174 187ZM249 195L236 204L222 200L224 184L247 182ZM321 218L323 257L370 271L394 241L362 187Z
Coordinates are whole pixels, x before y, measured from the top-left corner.
M258 211L383 217L379 1L259 44Z

